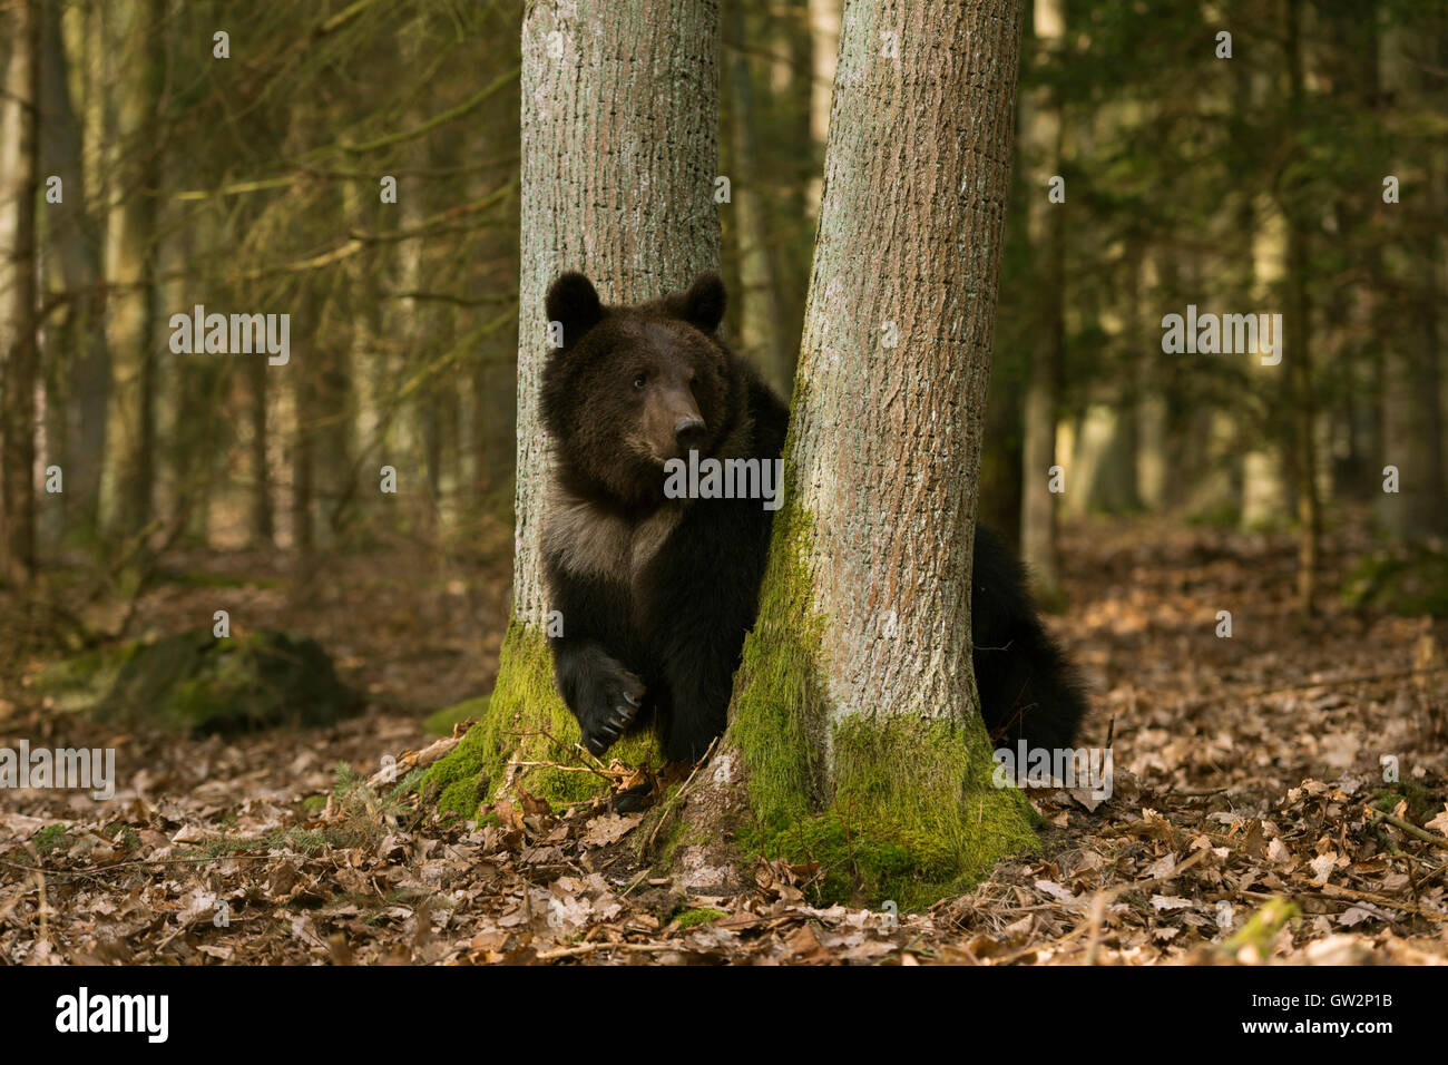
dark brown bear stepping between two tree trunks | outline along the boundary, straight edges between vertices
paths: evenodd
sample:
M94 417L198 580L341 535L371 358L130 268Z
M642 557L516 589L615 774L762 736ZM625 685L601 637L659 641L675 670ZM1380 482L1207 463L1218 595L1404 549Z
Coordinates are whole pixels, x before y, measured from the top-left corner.
M740 477L757 491L711 493L695 474L711 459L778 468L788 423L785 404L720 341L724 298L717 274L623 307L604 306L582 274L547 291L562 346L543 368L555 449L543 575L563 626L549 643L594 753L656 722L668 758L695 759L724 730L782 485ZM999 745L1067 746L1086 710L1076 672L1005 543L988 529L975 543L986 727Z

